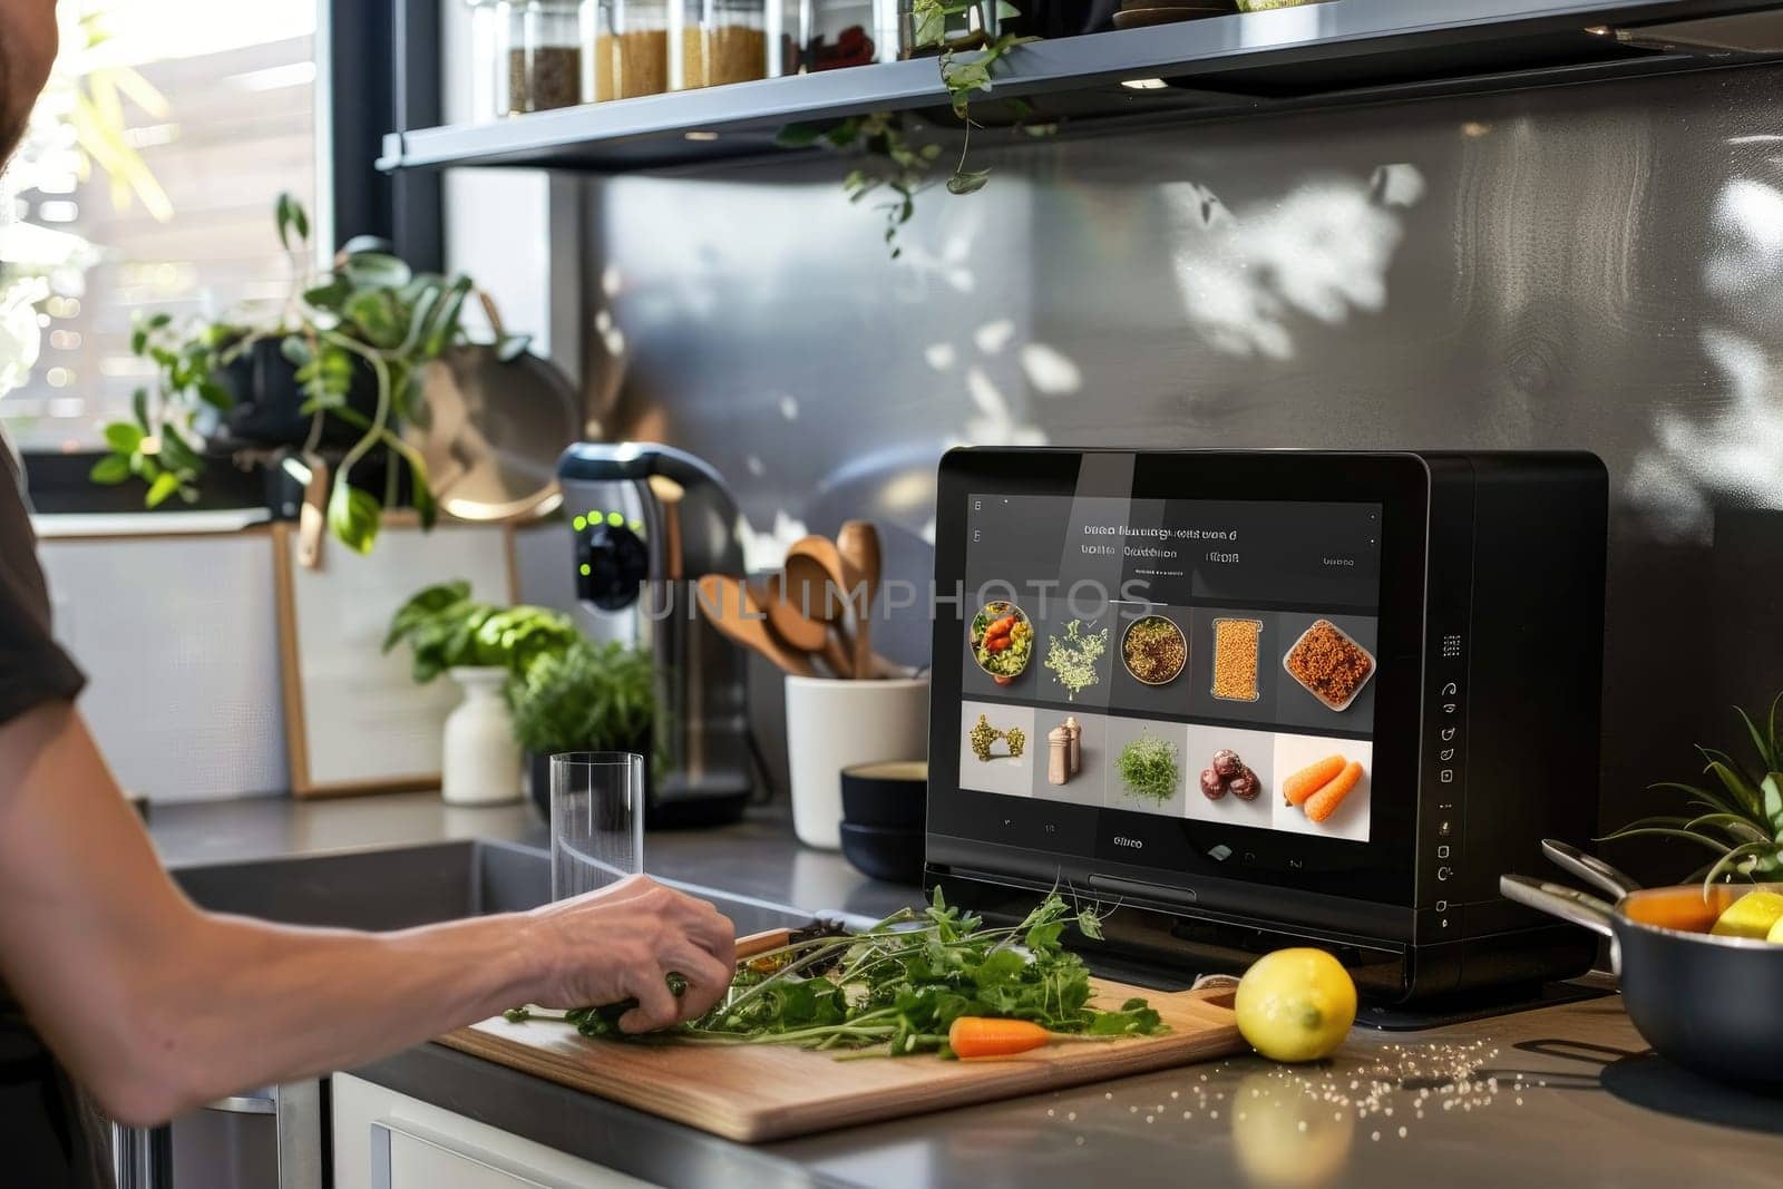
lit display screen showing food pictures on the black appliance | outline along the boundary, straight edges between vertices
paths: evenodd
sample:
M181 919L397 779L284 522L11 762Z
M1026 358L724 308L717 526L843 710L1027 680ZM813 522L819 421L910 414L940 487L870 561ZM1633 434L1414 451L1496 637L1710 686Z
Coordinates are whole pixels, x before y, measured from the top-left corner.
M968 496L959 786L1368 841L1380 521Z

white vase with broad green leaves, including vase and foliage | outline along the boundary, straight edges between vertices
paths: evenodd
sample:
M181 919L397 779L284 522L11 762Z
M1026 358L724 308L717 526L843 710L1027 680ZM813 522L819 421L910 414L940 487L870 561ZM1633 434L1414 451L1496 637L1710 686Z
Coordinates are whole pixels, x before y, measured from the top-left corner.
M398 608L383 651L407 642L417 683L444 672L465 693L446 720L440 797L449 804L519 799L521 752L506 685L579 640L565 615L480 603L465 581L428 586Z

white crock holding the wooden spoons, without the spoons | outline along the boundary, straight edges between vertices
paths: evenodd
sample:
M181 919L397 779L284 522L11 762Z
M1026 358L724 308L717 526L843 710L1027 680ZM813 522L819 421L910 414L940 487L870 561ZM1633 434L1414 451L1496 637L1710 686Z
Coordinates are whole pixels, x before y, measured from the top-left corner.
M842 770L929 754L929 679L786 677L792 825L808 847L842 847Z

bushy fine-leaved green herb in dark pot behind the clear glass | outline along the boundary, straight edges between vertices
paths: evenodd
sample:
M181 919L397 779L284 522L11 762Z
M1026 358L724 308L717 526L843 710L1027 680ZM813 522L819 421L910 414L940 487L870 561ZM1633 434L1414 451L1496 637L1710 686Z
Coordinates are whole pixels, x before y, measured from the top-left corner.
M654 667L642 649L578 638L567 649L538 656L515 676L508 683L508 704L514 738L526 752L533 804L547 820L555 752L651 754Z

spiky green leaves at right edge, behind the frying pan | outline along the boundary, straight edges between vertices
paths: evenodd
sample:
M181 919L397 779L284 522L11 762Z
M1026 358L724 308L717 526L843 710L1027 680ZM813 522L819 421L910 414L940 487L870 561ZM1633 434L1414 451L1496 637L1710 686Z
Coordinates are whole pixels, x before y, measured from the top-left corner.
M1778 729L1778 709L1783 693L1771 702L1763 729L1744 709L1735 713L1746 726L1758 759L1747 770L1731 754L1697 745L1703 756L1703 774L1713 777L1703 784L1660 781L1651 788L1671 788L1685 795L1692 815L1658 815L1630 822L1601 838L1683 838L1715 852L1692 879L1703 881L1705 893L1717 879L1762 879L1783 872L1783 733Z

